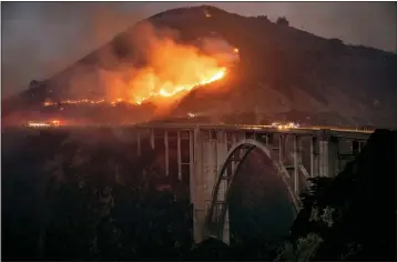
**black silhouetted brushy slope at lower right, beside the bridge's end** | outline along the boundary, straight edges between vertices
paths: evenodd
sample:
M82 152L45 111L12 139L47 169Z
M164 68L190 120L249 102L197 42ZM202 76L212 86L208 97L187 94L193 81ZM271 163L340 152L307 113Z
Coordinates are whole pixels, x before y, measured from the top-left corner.
M397 132L378 130L335 179L313 180L279 260L395 261Z

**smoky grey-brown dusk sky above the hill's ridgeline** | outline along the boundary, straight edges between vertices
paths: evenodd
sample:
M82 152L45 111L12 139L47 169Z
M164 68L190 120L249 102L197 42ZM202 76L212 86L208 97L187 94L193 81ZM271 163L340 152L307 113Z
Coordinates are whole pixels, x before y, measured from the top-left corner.
M62 70L140 19L200 2L2 2L2 95ZM347 43L397 49L394 2L206 2Z

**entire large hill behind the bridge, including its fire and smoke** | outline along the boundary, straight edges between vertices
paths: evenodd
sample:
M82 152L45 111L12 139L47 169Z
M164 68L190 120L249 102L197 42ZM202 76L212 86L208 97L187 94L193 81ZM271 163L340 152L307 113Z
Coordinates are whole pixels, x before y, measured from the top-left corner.
M235 61L238 66L232 69ZM145 107L130 105L154 105L164 112L171 103L182 114L211 109L214 114L255 112L257 119L277 120L283 114L295 121L302 114L313 124L388 127L397 119L396 64L396 54L347 46L261 17L212 7L175 9L131 27L32 85L19 100L7 101L3 115L21 108L40 111L35 105L43 102L88 103L89 109L70 107L75 109L73 117L108 113L106 121L128 115L134 122L142 114L135 111ZM227 84L222 80L226 75ZM216 83L200 88L211 82ZM190 92L193 89L196 92ZM119 102L128 104L111 107ZM120 111L123 108L125 112Z

